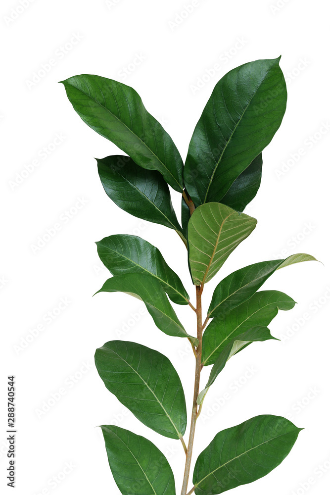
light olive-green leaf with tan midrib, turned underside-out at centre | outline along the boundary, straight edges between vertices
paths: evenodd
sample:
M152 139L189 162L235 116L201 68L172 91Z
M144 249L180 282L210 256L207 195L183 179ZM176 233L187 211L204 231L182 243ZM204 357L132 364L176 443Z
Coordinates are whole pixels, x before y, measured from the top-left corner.
M232 251L254 230L257 221L221 203L195 209L188 224L189 265L195 285L205 284Z

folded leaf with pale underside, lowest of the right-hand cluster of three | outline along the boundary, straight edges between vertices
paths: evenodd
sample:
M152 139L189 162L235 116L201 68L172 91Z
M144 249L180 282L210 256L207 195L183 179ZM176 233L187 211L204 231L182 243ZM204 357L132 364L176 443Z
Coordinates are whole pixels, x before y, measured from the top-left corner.
M214 365L212 366L211 373L205 389L200 392L197 397L197 404L201 404L204 400L206 392L210 386L214 383L215 379L224 369L228 359L237 354L240 350L252 344L252 342L264 342L267 340L279 340L271 335L269 328L263 326L251 327L241 334L234 333L233 337L230 337L226 342L226 347L222 347L220 354L218 355Z

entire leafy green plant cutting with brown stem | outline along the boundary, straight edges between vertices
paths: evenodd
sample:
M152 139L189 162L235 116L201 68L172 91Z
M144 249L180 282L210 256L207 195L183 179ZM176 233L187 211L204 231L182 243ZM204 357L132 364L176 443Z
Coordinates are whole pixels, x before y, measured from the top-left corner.
M126 212L180 236L195 286L191 301L159 249L140 237L112 234L96 243L112 275L98 292L140 298L156 327L168 339L188 339L195 357L185 437L185 393L168 357L120 340L96 350L95 364L105 387L144 425L181 442L186 459L182 488L176 489L172 469L154 444L118 426L101 426L110 469L123 495L221 494L276 468L299 434L300 428L283 417L256 416L216 431L191 466L196 422L208 389L237 352L253 342L275 339L268 325L279 310L295 305L283 292L260 291L263 283L280 268L315 260L300 253L239 268L219 282L207 312L202 313L205 284L257 224L243 210L259 189L261 153L285 112L287 95L279 62L280 58L256 60L224 75L197 122L185 164L172 138L133 88L88 74L62 81L83 121L125 153L97 159L105 193ZM172 194L182 196L181 223L170 188ZM196 329L179 320L173 303L195 313ZM201 390L201 374L208 370Z

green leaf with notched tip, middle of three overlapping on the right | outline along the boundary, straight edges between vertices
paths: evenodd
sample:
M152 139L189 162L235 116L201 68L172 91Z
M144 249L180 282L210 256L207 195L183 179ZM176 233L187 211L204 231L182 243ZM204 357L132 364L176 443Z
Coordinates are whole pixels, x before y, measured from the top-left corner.
M203 335L204 366L215 363L221 351L242 332L255 326L267 327L279 309L286 311L294 305L294 300L283 292L261 291L225 315L214 318Z

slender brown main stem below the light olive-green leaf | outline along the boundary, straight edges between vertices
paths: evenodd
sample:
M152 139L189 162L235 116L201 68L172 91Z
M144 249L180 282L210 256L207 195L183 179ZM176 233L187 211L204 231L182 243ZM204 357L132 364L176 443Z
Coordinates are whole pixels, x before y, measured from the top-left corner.
M193 402L192 402L192 411L191 411L189 443L188 443L188 448L187 448L185 474L184 474L184 481L183 481L183 485L182 485L181 495L187 494L190 465L191 465L191 457L192 457L193 439L195 436L196 420L197 420L197 408L198 408L197 397L199 394L199 381L200 381L200 371L201 371L201 361L202 361L202 334L203 334L202 302L201 302L202 292L203 292L203 286L196 286L197 339L199 341L199 344L198 344L198 347L196 349L195 382L194 382L194 389L193 389ZM192 492L190 492L190 493L192 493Z

